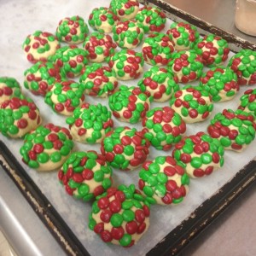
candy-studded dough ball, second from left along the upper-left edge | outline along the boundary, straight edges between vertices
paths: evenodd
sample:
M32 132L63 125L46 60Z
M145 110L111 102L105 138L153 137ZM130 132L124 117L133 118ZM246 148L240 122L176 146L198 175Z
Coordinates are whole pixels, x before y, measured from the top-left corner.
M60 42L79 44L84 42L89 32L87 24L79 15L67 17L59 22L56 28L56 37Z

